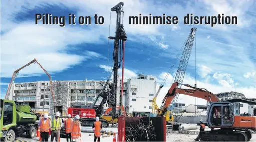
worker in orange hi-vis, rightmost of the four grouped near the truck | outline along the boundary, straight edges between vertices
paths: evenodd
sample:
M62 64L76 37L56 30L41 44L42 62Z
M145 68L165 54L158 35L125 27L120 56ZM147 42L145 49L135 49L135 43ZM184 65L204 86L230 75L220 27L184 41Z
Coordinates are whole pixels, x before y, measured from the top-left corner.
M76 118L73 120L72 123L71 138L75 142L80 142L79 139L81 139L81 123L79 119L79 115L76 115Z

